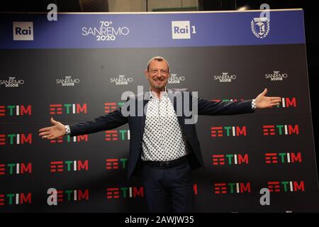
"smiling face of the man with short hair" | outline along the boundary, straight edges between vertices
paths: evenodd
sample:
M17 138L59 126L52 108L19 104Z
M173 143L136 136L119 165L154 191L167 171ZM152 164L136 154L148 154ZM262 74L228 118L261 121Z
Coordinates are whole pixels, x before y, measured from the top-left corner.
M152 90L164 90L169 78L169 70L166 62L152 60L152 62L150 62L148 72L145 70L145 76L150 82L150 87Z

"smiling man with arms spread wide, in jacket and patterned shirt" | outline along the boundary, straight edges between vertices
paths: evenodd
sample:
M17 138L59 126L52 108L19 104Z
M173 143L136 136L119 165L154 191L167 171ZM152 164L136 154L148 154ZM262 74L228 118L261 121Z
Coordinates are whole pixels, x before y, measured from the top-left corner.
M195 124L186 123L189 116L186 116L185 107L197 110L198 115L247 114L253 113L254 109L279 105L281 98L265 96L267 89L264 89L256 99L216 102L194 98L186 89L167 89L169 64L163 57L153 57L148 62L145 77L150 82L150 92L130 96L125 103L128 111L123 111L122 107L73 126L64 126L51 118L53 126L41 128L39 135L52 140L66 134L74 136L106 131L128 123L128 177L142 175L149 211L192 212L194 182L191 170L203 167L203 157ZM181 99L176 99L177 94L183 94ZM186 97L195 100L196 105L187 102ZM142 106L145 111L136 114L133 105ZM183 110L179 111L178 106L184 106Z

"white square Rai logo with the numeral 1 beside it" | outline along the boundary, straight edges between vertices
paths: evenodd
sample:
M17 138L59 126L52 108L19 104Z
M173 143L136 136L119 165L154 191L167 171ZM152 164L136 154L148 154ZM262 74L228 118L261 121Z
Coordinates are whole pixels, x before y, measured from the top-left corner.
M195 26L189 21L172 21L172 39L190 39L191 33L196 34Z

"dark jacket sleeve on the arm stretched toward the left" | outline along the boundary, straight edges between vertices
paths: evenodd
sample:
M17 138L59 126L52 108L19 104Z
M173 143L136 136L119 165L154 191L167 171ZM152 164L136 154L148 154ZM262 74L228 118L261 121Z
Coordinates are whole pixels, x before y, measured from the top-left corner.
M118 128L119 126L123 126L125 123L128 123L128 117L122 115L121 109L117 109L116 111L112 111L104 116L94 118L92 121L84 121L69 127L71 130L71 136L74 136Z

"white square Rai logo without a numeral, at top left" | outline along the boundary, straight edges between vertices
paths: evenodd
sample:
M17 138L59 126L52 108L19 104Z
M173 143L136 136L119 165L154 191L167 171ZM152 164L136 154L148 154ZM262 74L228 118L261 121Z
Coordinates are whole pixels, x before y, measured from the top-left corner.
M13 22L13 40L33 40L33 22Z

